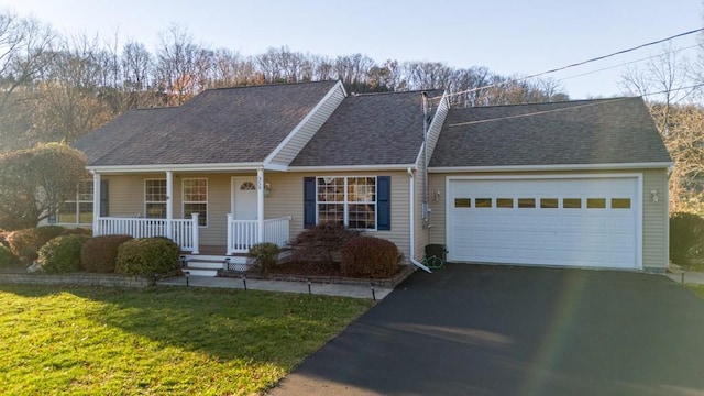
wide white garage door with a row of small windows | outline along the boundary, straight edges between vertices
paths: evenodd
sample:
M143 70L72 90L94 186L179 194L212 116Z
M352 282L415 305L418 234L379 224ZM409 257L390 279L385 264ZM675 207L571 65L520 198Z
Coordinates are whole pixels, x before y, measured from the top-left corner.
M638 268L637 177L448 180L448 260Z

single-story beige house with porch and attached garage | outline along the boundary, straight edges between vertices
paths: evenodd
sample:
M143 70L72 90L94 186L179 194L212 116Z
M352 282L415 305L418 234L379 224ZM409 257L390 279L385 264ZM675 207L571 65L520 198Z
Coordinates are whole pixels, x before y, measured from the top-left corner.
M642 99L450 109L447 95L319 81L131 110L74 144L94 179L57 220L213 260L338 221L417 265L441 244L452 262L664 272L672 162Z

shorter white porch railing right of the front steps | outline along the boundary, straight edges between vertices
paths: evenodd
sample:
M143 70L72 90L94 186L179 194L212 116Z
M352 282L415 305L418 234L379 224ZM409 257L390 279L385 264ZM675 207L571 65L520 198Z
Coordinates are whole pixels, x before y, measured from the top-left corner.
M284 248L289 238L290 216L264 220L264 241ZM257 220L235 220L228 215L228 254L248 253L258 242Z

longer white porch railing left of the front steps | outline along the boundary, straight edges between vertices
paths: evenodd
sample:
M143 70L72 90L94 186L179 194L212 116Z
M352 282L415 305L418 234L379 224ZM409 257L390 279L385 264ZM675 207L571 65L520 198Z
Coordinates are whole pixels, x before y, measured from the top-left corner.
M146 219L101 217L96 221L94 235L127 234L133 238L166 237L186 252L198 253L198 213L190 219Z

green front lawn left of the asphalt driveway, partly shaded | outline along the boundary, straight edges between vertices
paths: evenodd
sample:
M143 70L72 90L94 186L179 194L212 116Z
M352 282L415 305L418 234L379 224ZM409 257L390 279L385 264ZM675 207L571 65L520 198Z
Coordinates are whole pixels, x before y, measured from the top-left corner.
M257 394L372 304L254 290L0 285L0 394Z

